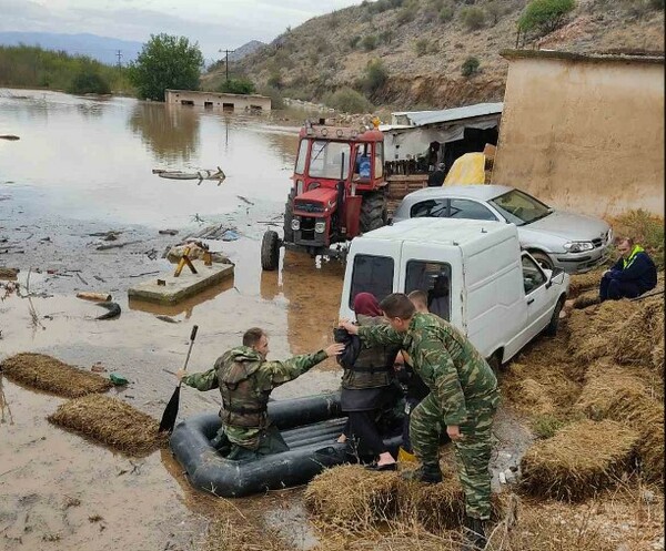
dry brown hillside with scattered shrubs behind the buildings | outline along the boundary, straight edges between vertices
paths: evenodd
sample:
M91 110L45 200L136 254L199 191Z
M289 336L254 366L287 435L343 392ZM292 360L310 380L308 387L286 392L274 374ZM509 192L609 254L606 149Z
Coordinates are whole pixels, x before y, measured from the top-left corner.
M565 24L523 48L577 52L664 51L659 0L578 0ZM507 62L500 55L516 45L516 23L526 0L380 0L342 9L287 29L273 42L232 65L264 91L321 101L342 86L363 91L371 60L381 60L387 80L365 94L375 105L397 109L450 108L501 101ZM470 11L475 11L474 17ZM480 16L481 12L481 16ZM480 28L473 29L472 23ZM475 57L480 70L462 75ZM206 89L223 78L203 78Z

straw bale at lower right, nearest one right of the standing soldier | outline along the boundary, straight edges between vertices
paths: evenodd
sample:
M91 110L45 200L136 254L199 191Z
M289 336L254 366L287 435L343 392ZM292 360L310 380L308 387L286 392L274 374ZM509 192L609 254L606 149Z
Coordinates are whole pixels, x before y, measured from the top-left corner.
M637 439L634 430L616 421L574 422L527 450L521 460L521 484L535 496L584 500L626 470Z

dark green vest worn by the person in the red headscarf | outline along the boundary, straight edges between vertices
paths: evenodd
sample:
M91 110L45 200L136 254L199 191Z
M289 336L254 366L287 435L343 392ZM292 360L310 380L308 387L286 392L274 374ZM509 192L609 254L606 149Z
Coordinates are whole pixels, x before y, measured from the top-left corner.
M361 327L386 325L384 316L356 316ZM353 369L342 374L342 388L360 390L386 387L393 380L393 361L400 348L396 346L373 346L363 348L354 361Z

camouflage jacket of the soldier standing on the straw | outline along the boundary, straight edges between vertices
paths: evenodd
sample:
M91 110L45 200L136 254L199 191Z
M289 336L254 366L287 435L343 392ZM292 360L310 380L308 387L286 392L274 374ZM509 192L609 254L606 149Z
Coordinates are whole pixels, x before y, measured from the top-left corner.
M440 402L443 421L461 425L467 412L498 400L495 374L456 327L432 314L414 314L406 333L390 326L360 327L366 346L400 345ZM471 420L471 419L470 419Z

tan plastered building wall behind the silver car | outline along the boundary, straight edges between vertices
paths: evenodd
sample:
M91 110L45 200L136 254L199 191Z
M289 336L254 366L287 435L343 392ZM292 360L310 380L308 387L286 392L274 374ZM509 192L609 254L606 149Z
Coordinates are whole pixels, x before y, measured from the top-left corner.
M493 183L593 215L664 215L664 64L509 59Z

